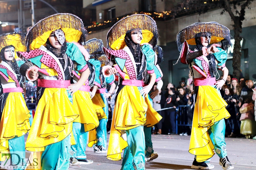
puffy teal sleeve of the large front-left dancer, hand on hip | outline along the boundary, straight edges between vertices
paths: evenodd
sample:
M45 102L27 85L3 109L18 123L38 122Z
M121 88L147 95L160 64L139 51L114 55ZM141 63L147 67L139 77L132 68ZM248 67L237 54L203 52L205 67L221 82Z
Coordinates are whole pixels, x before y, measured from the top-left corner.
M86 61L84 59L84 56L80 52L79 48L73 44L73 43L67 43L67 51L66 51L67 56L72 61L75 61L77 63L77 70L79 72L83 72L88 68L88 65L86 64Z

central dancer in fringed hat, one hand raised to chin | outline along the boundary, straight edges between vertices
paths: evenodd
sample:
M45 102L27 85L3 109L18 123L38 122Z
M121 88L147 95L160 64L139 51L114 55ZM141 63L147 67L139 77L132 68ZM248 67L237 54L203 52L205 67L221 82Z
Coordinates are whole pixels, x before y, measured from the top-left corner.
M146 119L146 112L152 108L148 108L144 97L156 81L156 75L154 50L148 44L141 47L140 44L156 46L156 22L143 14L127 16L111 27L106 39L108 49L104 48L104 52L110 61L103 67L103 73L106 76L119 73L107 158L121 160L125 148L121 169L129 169L131 164L134 169L145 169L143 126L152 126L155 121ZM150 82L142 87L147 73Z

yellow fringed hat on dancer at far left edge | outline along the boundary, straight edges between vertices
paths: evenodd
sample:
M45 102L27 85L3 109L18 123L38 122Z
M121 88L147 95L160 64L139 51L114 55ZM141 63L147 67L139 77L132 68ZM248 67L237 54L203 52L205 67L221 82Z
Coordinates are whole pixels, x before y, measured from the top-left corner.
M15 52L21 51L24 52L26 51L26 46L25 46L25 34L24 33L17 33L17 32L11 32L11 33L6 33L6 34L1 34L0 35L0 51L9 45L14 46ZM17 55L15 53L15 58L17 58Z

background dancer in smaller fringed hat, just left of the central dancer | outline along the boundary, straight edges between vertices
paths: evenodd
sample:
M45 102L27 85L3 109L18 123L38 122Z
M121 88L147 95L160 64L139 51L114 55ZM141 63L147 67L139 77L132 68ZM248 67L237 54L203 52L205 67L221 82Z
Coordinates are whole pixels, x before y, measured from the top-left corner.
M106 56L103 52L103 42L102 40L92 39L90 43L86 43L90 48L92 58L95 58L99 63L99 70L97 69L97 77L95 78L95 85L99 87L96 94L92 98L94 109L96 110L98 120L100 125L93 131L89 132L89 147L93 147L93 152L96 153L105 153L107 152L107 122L108 122L108 101L107 98L112 95L115 90L114 75L105 77L102 74L102 66L106 63ZM103 52L103 53L102 53ZM97 80L99 83L97 84ZM107 84L111 86L108 93L106 93ZM96 137L96 139L93 139ZM94 141L94 142L91 142Z

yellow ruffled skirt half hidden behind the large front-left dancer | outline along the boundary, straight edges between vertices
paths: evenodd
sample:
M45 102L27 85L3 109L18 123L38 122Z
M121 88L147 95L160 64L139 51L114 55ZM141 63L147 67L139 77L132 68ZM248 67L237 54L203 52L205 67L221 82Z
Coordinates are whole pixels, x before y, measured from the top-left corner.
M90 131L99 126L99 120L93 107L89 92L78 90L73 94L73 106L78 110L79 117L74 120L84 124L84 131Z

